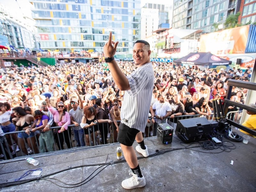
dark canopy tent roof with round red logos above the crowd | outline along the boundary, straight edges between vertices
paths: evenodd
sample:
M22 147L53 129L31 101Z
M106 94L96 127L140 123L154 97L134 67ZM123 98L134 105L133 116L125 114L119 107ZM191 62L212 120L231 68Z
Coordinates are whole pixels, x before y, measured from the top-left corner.
M222 59L213 55L210 52L198 52L198 53L189 53L187 56L173 61L174 63L184 63L192 65L230 65L232 61Z

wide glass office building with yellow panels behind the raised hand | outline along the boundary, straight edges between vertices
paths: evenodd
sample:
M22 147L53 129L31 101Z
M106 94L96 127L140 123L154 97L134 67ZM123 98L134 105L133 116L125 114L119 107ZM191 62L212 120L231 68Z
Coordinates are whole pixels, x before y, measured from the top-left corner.
M41 49L103 51L112 31L117 52L140 39L140 0L29 0Z

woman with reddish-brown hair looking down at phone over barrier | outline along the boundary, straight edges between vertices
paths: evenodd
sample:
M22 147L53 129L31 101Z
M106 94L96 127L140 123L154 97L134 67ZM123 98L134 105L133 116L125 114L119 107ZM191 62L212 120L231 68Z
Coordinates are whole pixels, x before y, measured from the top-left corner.
M94 133L98 131L98 126L94 126L97 123L97 111L94 107L85 107L84 108L84 116L81 121L81 127L84 129L85 134L85 144L86 146L91 146L90 141L95 145L94 143ZM93 127L94 126L94 129ZM94 130L94 132L93 132ZM89 138L89 131L91 133L91 138Z

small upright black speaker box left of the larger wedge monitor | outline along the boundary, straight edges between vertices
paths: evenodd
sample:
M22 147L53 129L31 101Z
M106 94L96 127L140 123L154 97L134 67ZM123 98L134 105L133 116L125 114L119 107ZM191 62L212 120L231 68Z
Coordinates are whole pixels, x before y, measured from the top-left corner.
M167 123L158 124L157 138L162 144L168 144L172 142L173 128Z

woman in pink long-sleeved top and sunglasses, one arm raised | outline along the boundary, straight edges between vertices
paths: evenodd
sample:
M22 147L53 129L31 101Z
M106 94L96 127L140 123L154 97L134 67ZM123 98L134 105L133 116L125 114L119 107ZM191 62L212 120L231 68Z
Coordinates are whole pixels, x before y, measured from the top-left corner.
M53 115L55 125L60 126L60 128L54 130L56 131L55 140L58 141L57 142L58 148L60 150L64 149L63 147L64 140L68 148L72 148L72 144L70 141L71 127L68 127L68 125L70 124L70 116L66 111L64 103L60 101L57 105L57 110L56 110L51 106L48 97L45 99L45 101L47 104L47 108Z

